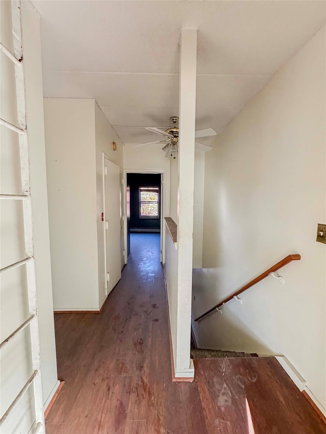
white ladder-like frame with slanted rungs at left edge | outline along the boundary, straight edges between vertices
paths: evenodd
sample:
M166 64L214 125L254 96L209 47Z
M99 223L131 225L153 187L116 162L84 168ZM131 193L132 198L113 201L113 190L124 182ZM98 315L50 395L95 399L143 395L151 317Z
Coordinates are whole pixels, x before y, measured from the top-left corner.
M16 99L17 99L17 125L13 125L5 119L0 119L0 124L9 128L18 134L19 137L19 156L20 156L20 173L21 173L21 194L13 195L0 194L1 200L21 200L24 222L24 242L25 242L25 258L17 261L0 270L0 273L8 273L14 268L25 267L27 276L27 291L29 303L28 318L14 330L0 344L2 349L8 342L14 340L15 337L26 327L30 330L31 338L31 354L33 372L28 381L22 386L20 392L12 401L8 409L0 419L0 427L10 415L12 410L17 406L24 393L33 387L34 391L34 406L35 406L35 433L45 433L44 413L43 413L43 396L42 396L42 379L41 379L41 358L40 358L40 340L38 328L38 311L37 311L37 295L36 295L36 277L35 277L35 261L34 261L34 243L33 243L33 221L32 221L32 203L31 203L31 183L30 183L30 159L29 159L29 143L28 131L26 129L26 106L25 106L25 81L24 81L24 57L23 57L23 40L21 31L21 9L20 1L12 0L11 2L12 16L12 35L14 52L12 53L5 45L0 44L1 55L5 55L10 59L15 66L15 83L16 83ZM6 143L2 143L6 146ZM8 146L8 144L7 144ZM17 168L18 169L18 168Z

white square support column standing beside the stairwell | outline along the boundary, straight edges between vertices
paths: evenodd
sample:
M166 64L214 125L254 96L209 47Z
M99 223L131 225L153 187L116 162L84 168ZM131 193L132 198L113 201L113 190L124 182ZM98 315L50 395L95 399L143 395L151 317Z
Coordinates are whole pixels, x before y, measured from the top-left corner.
M178 305L175 377L192 378L190 359L197 28L182 28L179 88Z

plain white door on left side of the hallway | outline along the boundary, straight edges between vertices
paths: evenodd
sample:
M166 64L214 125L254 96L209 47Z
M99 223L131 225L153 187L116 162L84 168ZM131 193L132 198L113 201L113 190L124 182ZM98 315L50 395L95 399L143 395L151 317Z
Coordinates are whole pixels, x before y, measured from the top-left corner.
M104 158L107 294L121 278L120 168Z

